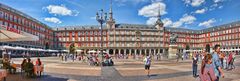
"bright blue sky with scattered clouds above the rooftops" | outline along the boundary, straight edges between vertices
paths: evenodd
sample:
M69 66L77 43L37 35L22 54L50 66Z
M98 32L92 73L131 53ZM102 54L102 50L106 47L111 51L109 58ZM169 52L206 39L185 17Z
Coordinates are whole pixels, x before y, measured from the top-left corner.
M96 12L110 0L0 0L51 26L96 25ZM166 27L203 29L240 20L240 0L113 0L117 23L154 24L158 11Z

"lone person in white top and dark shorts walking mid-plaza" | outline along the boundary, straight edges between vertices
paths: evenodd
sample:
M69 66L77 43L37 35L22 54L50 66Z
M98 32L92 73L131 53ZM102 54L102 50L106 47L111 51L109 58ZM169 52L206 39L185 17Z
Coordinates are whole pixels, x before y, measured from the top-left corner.
M151 66L151 56L147 54L143 62L145 64L145 71L147 72L147 76L150 77L149 74L150 74L150 66Z

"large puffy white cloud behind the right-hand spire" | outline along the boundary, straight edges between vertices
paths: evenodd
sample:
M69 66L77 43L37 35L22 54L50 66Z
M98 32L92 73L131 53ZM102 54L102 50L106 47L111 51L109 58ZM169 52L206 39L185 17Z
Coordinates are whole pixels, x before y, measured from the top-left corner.
M145 17L155 17L158 15L159 8L160 8L161 15L167 14L166 4L164 4L162 2L156 2L156 3L152 3L150 5L147 5L147 6L144 6L143 8L141 8L138 11L138 15L142 15Z

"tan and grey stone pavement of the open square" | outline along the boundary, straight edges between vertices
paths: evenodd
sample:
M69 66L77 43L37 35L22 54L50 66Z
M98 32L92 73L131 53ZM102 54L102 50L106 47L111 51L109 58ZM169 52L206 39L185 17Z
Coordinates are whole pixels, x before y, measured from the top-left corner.
M21 63L21 58L14 63ZM35 61L36 58L33 58ZM196 81L192 77L191 60L176 63L176 60L154 61L151 76L146 76L142 60L118 59L115 66L89 66L86 62L62 62L57 57L43 57L42 77L26 78L24 75L8 74L7 81ZM236 68L225 72L220 81L240 81L240 56ZM200 68L200 64L199 64ZM199 69L198 68L198 69Z

